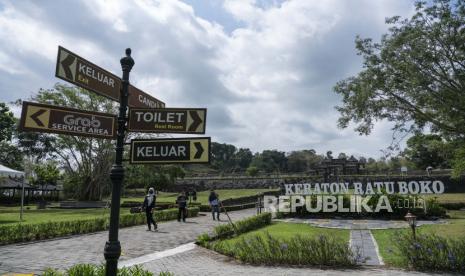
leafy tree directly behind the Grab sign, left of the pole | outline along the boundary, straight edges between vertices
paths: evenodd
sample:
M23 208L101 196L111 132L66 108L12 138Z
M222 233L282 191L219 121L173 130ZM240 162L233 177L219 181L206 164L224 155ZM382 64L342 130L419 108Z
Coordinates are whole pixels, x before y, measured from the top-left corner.
M80 110L117 112L114 102L61 84L55 85L54 89L41 89L32 100ZM38 141L41 137L44 140ZM29 138L33 140L28 143L39 145L38 155L56 156L60 160L65 173L64 189L69 195L81 200L100 200L109 193L109 172L114 158L111 140L56 134L32 135Z

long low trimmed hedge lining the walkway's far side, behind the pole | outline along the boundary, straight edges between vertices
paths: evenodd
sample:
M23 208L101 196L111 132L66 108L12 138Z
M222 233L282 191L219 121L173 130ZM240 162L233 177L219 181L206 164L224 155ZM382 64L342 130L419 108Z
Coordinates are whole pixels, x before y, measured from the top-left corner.
M189 208L189 217L198 215L198 208ZM154 213L156 221L176 219L177 209L162 210ZM120 227L145 224L145 214L126 214L120 216ZM0 244L43 240L69 235L104 231L109 228L110 218L93 218L73 221L49 221L38 224L14 224L0 226Z

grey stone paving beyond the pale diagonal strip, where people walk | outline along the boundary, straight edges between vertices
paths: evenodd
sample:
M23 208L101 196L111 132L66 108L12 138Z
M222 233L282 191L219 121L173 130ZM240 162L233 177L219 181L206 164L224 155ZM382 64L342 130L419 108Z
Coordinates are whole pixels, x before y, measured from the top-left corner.
M233 220L254 214L255 209L230 212ZM208 214L188 218L187 223L163 222L159 224L158 232L145 231L146 225L122 228L119 231L123 251L120 260L193 242L198 235L211 231L214 226L227 223L224 214L221 215L221 219L221 222L213 221ZM7 272L38 273L47 267L61 269L78 263L102 263L103 248L107 239L108 231L103 231L55 240L0 246L0 275Z

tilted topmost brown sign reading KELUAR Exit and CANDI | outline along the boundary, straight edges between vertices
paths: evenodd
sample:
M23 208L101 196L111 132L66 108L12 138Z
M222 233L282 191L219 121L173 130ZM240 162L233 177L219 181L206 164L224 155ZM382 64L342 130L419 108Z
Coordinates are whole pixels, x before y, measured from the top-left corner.
M120 101L121 79L105 69L58 46L55 76L111 100ZM165 103L129 85L130 107L164 107Z

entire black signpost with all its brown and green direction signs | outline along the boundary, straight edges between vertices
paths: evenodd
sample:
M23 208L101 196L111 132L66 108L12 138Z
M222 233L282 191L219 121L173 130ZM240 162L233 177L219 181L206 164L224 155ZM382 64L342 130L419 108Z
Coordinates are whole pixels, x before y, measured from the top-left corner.
M126 130L151 133L204 134L205 108L166 108L165 104L129 84L134 66L131 49L120 60L123 77L100 68L71 51L58 47L55 75L65 81L120 103L118 117L67 107L23 102L20 129L95 138L116 138L108 241L105 244L105 273L116 275L121 244L118 240L123 153ZM130 110L128 128L127 108ZM209 163L210 137L132 140L131 164Z

